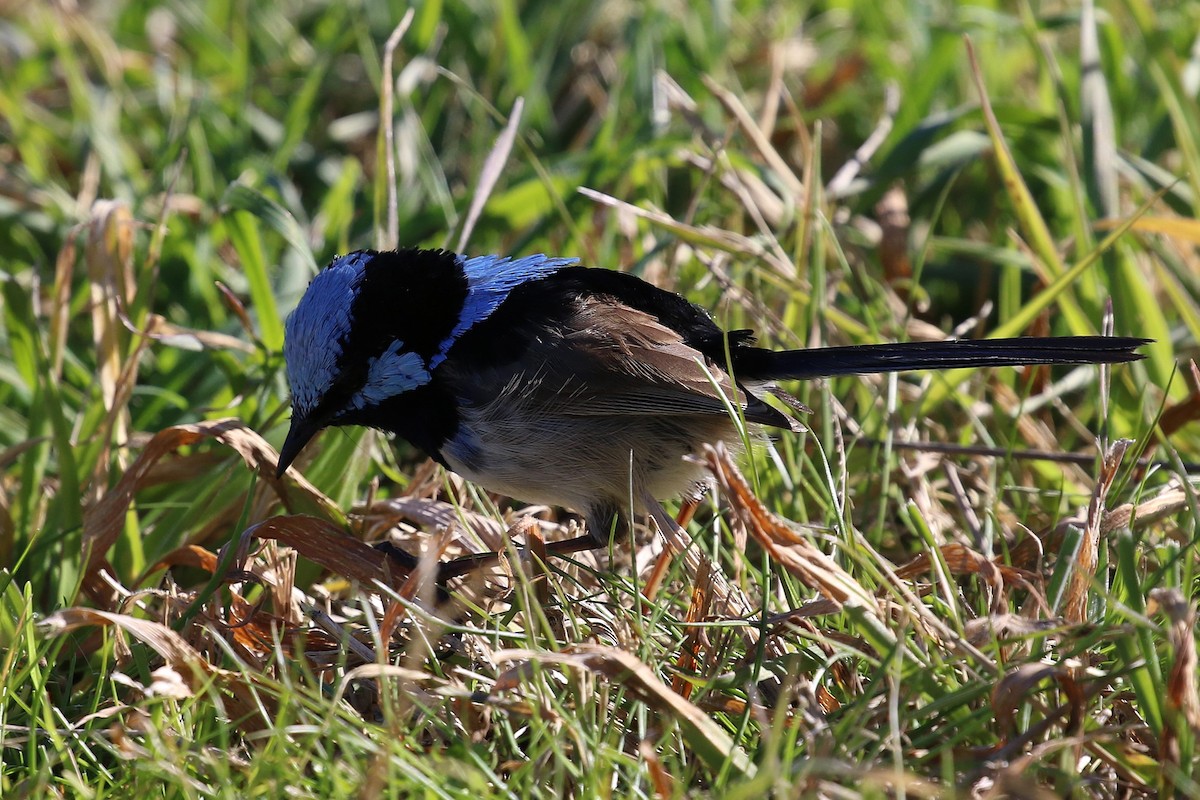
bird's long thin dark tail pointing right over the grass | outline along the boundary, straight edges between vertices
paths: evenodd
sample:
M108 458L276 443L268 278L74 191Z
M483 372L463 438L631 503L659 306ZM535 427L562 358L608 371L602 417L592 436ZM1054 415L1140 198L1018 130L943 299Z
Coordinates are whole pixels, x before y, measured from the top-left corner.
M856 344L811 350L746 348L734 368L752 378L826 378L908 369L1013 367L1031 363L1122 363L1145 356L1136 349L1151 339L1123 336L1050 336L1012 339L954 339Z

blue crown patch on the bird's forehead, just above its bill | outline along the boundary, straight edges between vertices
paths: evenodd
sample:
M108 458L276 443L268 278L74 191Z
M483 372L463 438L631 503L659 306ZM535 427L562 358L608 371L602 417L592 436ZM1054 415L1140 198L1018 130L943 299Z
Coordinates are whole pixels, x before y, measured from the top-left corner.
M350 305L371 255L350 253L317 273L288 317L283 357L292 402L302 416L312 411L337 375L341 342L350 331Z

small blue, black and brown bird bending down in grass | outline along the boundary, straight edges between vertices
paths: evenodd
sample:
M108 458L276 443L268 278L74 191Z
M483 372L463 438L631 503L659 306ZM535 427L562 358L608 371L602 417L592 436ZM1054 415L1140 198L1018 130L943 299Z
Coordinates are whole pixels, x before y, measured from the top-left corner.
M734 415L794 429L781 380L911 369L1121 363L1150 339L1016 337L756 347L637 276L544 254L360 249L311 281L284 327L292 420L277 477L323 428L365 426L490 492L572 510L592 546L703 486L695 456Z

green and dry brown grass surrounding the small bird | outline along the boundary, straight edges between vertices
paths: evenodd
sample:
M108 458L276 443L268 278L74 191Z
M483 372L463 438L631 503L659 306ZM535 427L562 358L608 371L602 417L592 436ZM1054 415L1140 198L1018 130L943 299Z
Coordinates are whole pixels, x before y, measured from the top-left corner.
M398 242L404 6L0 17L0 795L1200 794L1200 7L414 8ZM773 347L1090 333L1110 301L1156 343L1108 383L791 387L809 431L690 525L712 572L648 585L616 542L438 604L338 537L448 558L518 506L358 431L277 483L265 443L316 266L464 234ZM1133 445L1105 469L1097 437Z

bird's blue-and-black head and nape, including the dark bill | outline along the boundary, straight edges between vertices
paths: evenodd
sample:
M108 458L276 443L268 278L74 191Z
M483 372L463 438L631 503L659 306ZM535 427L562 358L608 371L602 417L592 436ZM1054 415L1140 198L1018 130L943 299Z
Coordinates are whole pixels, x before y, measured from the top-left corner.
M436 249L365 249L335 258L287 320L292 427L277 474L325 427L397 429L389 425L389 409L431 384L462 333L487 319L516 285L570 263Z

